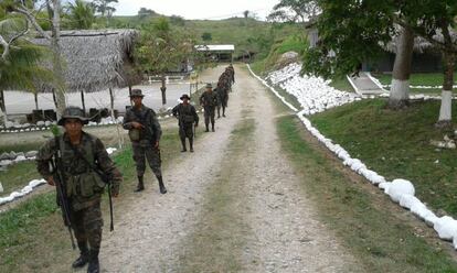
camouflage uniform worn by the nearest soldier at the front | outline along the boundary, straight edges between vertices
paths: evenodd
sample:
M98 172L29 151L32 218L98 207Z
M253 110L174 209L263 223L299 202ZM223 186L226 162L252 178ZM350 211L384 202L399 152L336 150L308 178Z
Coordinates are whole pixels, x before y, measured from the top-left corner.
M54 181L57 181L57 176L50 170L50 163L57 145L62 157L61 167L63 170L61 173L65 181L63 187L70 204L70 220L77 245L83 259L88 260L89 255L91 259L94 256L98 259L103 227L100 198L105 184L81 156L84 156L87 162L94 163L94 167L111 177L113 193L115 194L119 192L123 176L109 159L102 141L83 131L81 143L76 146L72 148L70 138L65 133L47 141L40 149L36 155L38 172L45 178L54 176ZM87 242L91 245L91 251L88 251Z

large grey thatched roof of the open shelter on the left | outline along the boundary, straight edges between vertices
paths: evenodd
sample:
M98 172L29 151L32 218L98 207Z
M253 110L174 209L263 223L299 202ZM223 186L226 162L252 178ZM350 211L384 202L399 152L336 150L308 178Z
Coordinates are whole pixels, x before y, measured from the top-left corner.
M137 35L135 30L62 31L60 45L66 91L93 92L137 81L131 64ZM33 43L50 45L43 37L34 39ZM52 67L49 62L44 65ZM50 91L49 85L40 85L40 89Z

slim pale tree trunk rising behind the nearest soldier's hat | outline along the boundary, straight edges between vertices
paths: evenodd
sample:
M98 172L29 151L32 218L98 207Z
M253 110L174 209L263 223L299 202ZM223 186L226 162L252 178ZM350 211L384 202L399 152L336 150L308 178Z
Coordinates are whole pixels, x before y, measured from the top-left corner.
M63 83L63 72L62 72L62 56L61 56L61 45L59 44L61 40L61 1L52 0L53 10L52 10L52 51L53 51L53 73L59 83ZM65 110L65 90L61 84L55 86L55 102L56 102L56 112L57 119L62 117L63 111Z

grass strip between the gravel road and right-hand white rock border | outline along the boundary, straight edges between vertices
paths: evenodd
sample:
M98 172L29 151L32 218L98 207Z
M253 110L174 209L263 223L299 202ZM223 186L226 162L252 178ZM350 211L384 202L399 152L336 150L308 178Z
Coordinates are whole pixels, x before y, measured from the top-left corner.
M283 149L319 216L364 272L457 272L457 263L442 247L428 243L397 217L400 208L392 211L394 205L385 204L381 193L369 192L371 186L364 187L363 182L354 183L338 162L325 156L320 145L312 145L297 118L279 118L277 128Z

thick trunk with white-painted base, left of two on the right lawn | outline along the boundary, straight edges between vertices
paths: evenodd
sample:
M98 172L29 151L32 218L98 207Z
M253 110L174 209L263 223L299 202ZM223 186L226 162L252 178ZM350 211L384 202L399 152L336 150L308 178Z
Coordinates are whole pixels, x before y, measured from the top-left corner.
M413 48L413 31L410 28L403 28L396 43L396 54L391 83L391 95L389 98L389 108L391 109L401 109L408 103Z

